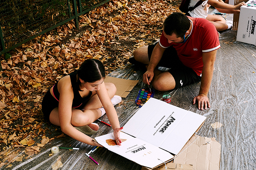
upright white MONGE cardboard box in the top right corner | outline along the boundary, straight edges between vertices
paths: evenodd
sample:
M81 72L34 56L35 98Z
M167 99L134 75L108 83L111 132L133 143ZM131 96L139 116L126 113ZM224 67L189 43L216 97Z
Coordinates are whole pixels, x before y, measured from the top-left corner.
M249 0L246 4L240 9L236 41L256 45L256 1Z

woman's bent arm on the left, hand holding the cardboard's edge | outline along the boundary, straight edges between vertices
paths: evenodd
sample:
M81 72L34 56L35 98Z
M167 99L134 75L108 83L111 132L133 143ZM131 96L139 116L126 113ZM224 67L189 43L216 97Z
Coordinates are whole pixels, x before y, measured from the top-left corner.
M71 124L74 94L69 76L60 79L58 82L58 90L60 93L58 114L61 131L80 142L101 146L93 141L91 137L75 129Z

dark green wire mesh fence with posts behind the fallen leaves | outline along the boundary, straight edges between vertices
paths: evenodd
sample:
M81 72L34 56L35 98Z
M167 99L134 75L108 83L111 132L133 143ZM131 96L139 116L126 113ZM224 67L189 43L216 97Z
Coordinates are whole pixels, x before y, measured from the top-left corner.
M70 1L72 3L70 3ZM108 0L107 0L108 1ZM104 0L8 0L0 1L0 54L93 9ZM78 5L78 7L77 7ZM79 13L73 10L78 8ZM76 23L78 28L78 23Z

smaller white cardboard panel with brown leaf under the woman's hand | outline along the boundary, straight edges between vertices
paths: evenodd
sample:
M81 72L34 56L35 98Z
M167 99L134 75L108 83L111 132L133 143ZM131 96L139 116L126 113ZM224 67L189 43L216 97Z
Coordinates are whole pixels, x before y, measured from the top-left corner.
M122 146L110 146L106 143L107 139L115 139L113 133L95 137L95 140L108 150L144 167L154 168L163 161L166 162L174 158L169 152L129 134L122 132L120 138L127 139L121 143Z

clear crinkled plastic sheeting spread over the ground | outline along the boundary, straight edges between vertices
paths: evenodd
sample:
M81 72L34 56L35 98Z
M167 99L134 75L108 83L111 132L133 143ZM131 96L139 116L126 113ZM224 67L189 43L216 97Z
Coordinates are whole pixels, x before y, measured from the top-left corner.
M221 170L253 170L256 169L256 47L237 42L235 38L236 31L221 32L221 48L217 51L208 94L211 107L201 111L198 110L197 105L192 104L193 98L199 92L200 83L170 91L170 104L207 117L198 135L215 137L221 144ZM144 69L127 64L109 74L109 76L118 78L140 80L131 93L123 98L121 104L115 106L121 126L139 109L135 104L135 99L139 89L147 87L142 83L144 71ZM155 98L161 99L163 93L156 92ZM100 119L109 123L106 115ZM100 125L100 130L97 134L91 135L92 138L112 132L111 127L101 122L96 121L96 123ZM217 126L214 126L216 124ZM60 149L57 154L49 155L52 146L80 149ZM22 162L13 162L10 169L50 170L61 165L59 169L68 170L141 169L141 166L106 148L98 148L90 154L100 164L96 165L85 155L92 148L93 146L78 142L71 137L54 139L50 144L42 147L38 154ZM5 169L6 166L1 169Z

